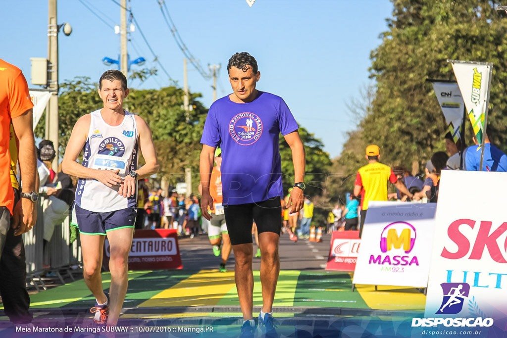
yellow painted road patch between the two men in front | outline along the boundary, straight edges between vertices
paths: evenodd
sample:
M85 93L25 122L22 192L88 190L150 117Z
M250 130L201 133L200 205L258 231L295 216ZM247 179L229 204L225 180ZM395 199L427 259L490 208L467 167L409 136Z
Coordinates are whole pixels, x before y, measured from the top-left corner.
M214 306L234 284L234 271L201 270L138 307Z

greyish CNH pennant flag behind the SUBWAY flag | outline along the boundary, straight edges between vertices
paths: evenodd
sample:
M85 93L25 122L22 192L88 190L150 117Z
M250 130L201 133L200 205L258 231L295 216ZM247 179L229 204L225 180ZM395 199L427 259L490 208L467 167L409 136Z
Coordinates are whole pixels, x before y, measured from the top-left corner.
M454 142L460 137L463 124L463 98L457 83L433 82L433 90L444 113L445 121L449 125Z

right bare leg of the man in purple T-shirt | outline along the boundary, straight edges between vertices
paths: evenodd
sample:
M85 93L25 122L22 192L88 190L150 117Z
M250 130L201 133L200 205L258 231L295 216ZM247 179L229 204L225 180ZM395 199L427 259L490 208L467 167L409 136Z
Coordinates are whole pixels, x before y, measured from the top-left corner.
M280 256L278 255L278 242L280 236L271 232L259 234L261 248L261 283L262 283L262 311L273 311L276 283L280 273Z

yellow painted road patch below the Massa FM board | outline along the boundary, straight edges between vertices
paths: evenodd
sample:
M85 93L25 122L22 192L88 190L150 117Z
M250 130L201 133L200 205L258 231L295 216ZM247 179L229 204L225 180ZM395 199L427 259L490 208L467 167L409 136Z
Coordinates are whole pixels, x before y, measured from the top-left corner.
M413 287L356 284L365 303L374 310L424 311L426 296Z

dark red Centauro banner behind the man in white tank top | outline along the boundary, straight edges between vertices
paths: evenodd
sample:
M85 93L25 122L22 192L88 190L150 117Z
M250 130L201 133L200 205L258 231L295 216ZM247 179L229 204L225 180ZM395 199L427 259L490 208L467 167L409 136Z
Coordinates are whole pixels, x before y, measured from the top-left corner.
M102 267L109 271L110 246L104 243ZM176 230L136 230L128 255L129 270L183 269Z

